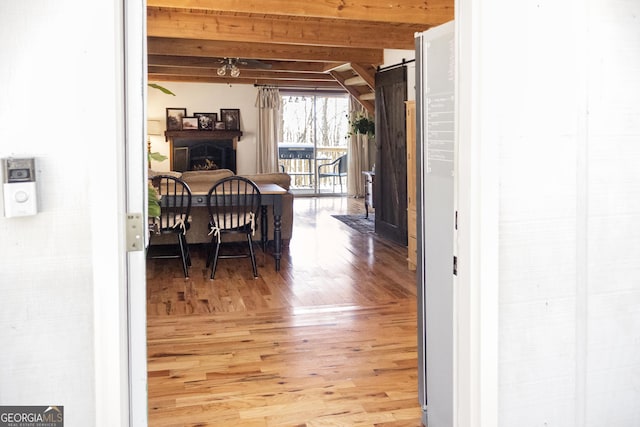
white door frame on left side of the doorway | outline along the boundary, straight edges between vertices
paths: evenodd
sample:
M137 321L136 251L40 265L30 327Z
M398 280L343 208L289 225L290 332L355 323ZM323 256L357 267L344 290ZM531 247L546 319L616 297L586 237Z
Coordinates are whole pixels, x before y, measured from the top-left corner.
M94 425L147 425L146 279L143 251L127 252L127 213L146 217L146 5L113 4L113 144L92 176ZM143 221L136 224L143 227ZM113 238L116 233L117 239Z

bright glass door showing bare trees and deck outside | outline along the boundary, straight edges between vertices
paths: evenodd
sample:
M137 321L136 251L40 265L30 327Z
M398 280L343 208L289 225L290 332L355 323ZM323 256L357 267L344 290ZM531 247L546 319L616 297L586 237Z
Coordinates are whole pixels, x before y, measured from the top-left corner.
M347 154L348 114L347 95L282 96L280 164L292 176L293 189L337 188L335 180L318 180L317 167Z

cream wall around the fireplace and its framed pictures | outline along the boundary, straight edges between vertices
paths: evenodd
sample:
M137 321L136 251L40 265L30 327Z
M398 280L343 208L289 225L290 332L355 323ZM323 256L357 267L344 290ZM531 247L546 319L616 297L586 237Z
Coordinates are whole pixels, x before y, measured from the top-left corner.
M226 85L211 83L173 83L157 82L171 90L176 96L166 95L159 90L149 89L149 120L161 120L163 134L166 130L166 108L186 108L187 115L193 113L218 113L221 108L240 109L240 130L242 137L238 142L236 153L237 172L252 174L256 171L256 129L258 126L258 110L255 106L258 88L253 85ZM151 150L169 155L169 143L163 136L151 137ZM156 170L169 170L169 161L153 162Z

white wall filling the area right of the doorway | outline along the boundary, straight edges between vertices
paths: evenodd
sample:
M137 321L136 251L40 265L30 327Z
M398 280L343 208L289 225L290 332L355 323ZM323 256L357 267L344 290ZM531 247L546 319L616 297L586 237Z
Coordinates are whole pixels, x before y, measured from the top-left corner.
M640 425L640 3L459 3L498 177L499 425Z

